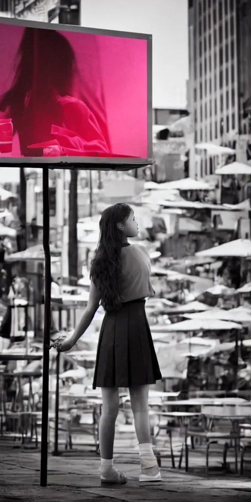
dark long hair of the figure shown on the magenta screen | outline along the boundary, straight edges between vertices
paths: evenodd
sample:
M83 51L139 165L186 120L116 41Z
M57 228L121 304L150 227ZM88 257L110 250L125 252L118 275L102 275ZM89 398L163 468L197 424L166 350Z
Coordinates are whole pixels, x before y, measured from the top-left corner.
M9 109L15 132L22 127L28 96L48 110L56 95L72 95L78 74L70 42L55 30L25 28L17 58L12 85L0 99L0 110Z

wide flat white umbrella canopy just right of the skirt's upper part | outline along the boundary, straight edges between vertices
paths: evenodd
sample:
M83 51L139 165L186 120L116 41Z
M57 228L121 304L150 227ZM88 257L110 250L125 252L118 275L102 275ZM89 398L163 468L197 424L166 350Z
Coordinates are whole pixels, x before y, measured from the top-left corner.
M165 326L151 326L151 331L167 333L169 331L228 331L230 329L241 329L241 324L235 322L221 321L220 319L189 319Z

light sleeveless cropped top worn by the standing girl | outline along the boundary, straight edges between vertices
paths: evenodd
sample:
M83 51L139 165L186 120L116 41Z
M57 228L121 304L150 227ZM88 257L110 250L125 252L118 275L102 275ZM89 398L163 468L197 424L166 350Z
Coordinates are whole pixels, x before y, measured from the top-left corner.
M125 245L121 249L122 271L119 280L122 303L152 297L151 261L148 250L142 244Z

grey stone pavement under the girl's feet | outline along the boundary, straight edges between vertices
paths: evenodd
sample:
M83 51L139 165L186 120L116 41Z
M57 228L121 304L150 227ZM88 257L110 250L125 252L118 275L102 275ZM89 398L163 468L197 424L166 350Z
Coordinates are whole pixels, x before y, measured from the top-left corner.
M40 486L40 453L14 449L0 442L0 500L1 502L222 502L250 500L251 480L228 474L225 476L185 473L184 470L162 467L163 482L140 485L139 466L129 459L118 458L116 466L127 472L124 486L100 486L99 458L85 456L48 457L48 486ZM168 465L169 462L167 461Z

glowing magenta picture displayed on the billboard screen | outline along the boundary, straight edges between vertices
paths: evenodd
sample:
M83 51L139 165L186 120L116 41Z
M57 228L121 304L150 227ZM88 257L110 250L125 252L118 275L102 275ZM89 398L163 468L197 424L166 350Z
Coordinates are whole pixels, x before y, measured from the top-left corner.
M0 22L0 46L0 161L148 158L147 40Z

